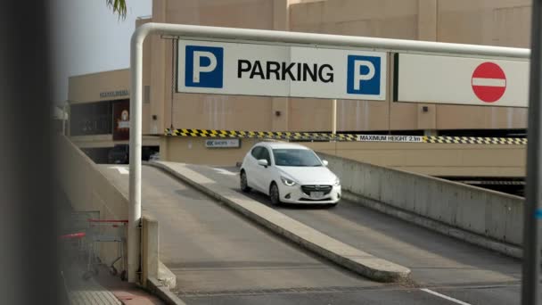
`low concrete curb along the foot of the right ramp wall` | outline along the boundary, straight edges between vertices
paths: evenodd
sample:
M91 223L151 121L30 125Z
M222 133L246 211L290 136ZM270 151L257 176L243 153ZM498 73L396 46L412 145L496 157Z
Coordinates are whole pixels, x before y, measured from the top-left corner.
M491 251L497 251L501 254L505 254L506 256L510 256L515 259L521 260L523 255L522 249L512 244L497 242L488 237L477 235L457 227L452 227L437 220L417 215L410 211L400 210L396 207L390 206L389 204L376 202L372 199L365 198L364 196L360 196L358 194L353 194L351 192L343 190L342 199L362 205L365 208L371 210L378 210L381 213L390 215L391 217L405 220L407 222L415 224L416 226L428 228L431 231L454 237L466 243L472 243L482 248L489 249Z

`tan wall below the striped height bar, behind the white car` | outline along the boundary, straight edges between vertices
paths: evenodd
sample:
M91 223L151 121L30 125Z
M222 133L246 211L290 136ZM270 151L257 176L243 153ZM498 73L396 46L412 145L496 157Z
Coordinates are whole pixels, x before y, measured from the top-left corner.
M160 158L193 164L233 166L261 139L241 139L241 148L206 148L204 137L161 136ZM524 177L525 146L304 142L316 152L391 169L438 177Z

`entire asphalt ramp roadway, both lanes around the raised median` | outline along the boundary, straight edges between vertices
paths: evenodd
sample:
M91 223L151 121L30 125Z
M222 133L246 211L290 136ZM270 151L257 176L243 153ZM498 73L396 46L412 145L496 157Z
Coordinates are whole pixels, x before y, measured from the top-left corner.
M127 194L126 167L101 165ZM238 190L234 168L191 166ZM379 284L335 267L144 166L143 209L160 223L160 259L187 304L519 304L517 260L341 202L284 214L413 270L416 285ZM250 197L268 204L261 194ZM423 290L429 289L429 290Z

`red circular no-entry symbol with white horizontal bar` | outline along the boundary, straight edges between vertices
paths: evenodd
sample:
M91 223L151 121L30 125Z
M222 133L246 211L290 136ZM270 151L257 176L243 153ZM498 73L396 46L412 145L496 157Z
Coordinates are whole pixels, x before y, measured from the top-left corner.
M494 62L484 62L472 72L472 91L485 103L497 102L506 91L506 75Z

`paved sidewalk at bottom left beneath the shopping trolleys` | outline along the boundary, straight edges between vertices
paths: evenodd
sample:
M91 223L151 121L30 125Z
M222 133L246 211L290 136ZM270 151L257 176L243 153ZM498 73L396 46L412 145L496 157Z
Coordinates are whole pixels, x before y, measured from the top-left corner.
M107 268L100 268L98 276L84 280L84 268L73 266L64 273L66 288L72 305L161 305L163 301L136 284L111 276Z

